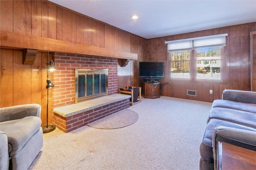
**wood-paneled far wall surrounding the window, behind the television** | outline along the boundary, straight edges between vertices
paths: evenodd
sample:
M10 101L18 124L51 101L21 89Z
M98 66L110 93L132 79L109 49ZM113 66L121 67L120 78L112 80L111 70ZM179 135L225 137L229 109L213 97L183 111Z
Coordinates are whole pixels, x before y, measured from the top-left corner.
M143 60L164 61L165 77L160 79L163 83L162 95L212 102L215 99L221 99L224 89L250 91L250 32L255 30L256 22L150 39L147 40L147 51ZM225 57L226 83L177 81L168 77L168 53L164 42L216 34L228 34L223 56ZM188 89L197 91L197 96L187 96ZM210 89L213 90L213 94L209 93Z

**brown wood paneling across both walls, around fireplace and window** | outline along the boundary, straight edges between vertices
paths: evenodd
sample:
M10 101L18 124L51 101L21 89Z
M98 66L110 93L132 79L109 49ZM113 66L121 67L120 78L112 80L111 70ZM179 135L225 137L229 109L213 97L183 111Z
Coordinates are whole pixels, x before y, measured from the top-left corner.
M256 23L146 40L46 0L1 0L0 23L0 30L7 32L138 53L138 60L130 61L126 67L118 65L118 87L141 86L139 61L164 61L161 95L212 102L221 98L224 89L250 90L250 32L256 31ZM173 81L168 78L165 41L225 33L228 33L224 52L227 83ZM45 125L46 62L47 53L38 52L33 65L22 65L22 50L1 48L0 107L41 104L42 125ZM196 90L197 96L187 97L187 89ZM213 94L209 94L210 89Z

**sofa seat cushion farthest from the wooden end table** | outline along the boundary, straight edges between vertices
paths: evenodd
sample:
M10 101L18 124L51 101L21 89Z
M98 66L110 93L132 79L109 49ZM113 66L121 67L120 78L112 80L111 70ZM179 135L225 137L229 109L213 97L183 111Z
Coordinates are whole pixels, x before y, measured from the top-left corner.
M213 101L212 107L222 107L256 113L256 104L252 103L240 103L236 101L217 99Z

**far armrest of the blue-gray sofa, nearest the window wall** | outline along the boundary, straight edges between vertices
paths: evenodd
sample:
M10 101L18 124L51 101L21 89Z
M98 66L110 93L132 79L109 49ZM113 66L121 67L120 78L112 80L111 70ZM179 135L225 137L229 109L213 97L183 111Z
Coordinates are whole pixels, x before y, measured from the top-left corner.
M256 92L226 89L222 92L222 100L256 104Z

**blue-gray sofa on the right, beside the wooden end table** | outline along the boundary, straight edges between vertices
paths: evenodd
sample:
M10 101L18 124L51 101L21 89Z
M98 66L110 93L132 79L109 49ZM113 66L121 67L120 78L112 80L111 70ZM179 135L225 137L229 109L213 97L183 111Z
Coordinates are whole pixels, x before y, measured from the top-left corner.
M216 169L218 142L256 150L256 92L224 90L212 103L200 145L200 170Z

